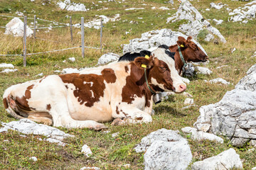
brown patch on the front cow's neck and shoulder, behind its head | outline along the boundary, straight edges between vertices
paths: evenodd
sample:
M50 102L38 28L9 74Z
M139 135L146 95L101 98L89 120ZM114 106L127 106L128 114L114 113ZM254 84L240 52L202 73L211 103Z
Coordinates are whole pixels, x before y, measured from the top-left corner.
M146 86L144 69L139 69L131 63L131 74L126 78L126 84L122 89L122 102L131 104L135 97L145 97L145 106L150 106L151 92Z

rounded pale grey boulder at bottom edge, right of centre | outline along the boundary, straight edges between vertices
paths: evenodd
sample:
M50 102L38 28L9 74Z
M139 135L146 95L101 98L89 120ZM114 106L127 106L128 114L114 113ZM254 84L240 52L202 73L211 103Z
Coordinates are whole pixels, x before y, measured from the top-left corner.
M187 169L192 160L186 139L174 130L160 129L142 138L136 152L145 152L144 169Z

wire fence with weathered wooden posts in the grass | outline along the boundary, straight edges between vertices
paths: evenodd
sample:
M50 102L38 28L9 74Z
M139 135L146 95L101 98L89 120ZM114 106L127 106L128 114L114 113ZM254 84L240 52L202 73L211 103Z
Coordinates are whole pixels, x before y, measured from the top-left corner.
M91 48L91 49L96 49L96 50L100 50L102 52L102 19L100 21L100 47L88 47L85 46L85 31L84 31L84 18L81 17L81 41L82 44L79 47L68 47L65 49L60 49L60 50L50 50L50 51L46 51L46 52L35 52L35 53L26 53L26 30L27 30L27 19L33 19L33 38L34 39L39 39L39 40L46 40L46 41L50 41L50 42L59 42L60 41L55 41L55 40L48 40L48 39L44 39L44 38L38 38L36 37L36 30L38 29L52 29L52 28L66 28L66 27L70 27L70 37L71 37L71 41L73 41L73 24L72 24L72 17L70 16L70 23L59 23L56 21L48 21L46 19L41 19L41 18L36 18L36 16L34 16L34 18L27 18L26 16L24 17L17 17L17 16L4 16L4 15L0 15L3 17L8 17L8 18L24 18L24 23L23 23L23 54L22 55L3 55L0 54L0 56L23 56L23 66L26 67L26 56L27 55L40 55L40 54L45 54L45 53L49 53L49 52L61 52L61 51L65 51L65 50L73 50L73 49L77 49L77 48L81 48L82 49L82 57L85 57L85 48ZM36 27L36 20L40 20L40 21L47 21L53 24L62 24L65 26L48 26L48 27ZM0 26L0 28L6 28L4 26ZM75 27L77 28L77 27Z

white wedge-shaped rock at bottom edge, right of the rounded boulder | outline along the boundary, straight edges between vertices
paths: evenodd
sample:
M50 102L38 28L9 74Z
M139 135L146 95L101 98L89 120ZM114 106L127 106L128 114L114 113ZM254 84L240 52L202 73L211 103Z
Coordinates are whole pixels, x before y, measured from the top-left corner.
M195 162L191 167L193 170L225 170L234 168L242 169L242 162L239 154L233 148L221 152L215 157L204 159L201 162Z

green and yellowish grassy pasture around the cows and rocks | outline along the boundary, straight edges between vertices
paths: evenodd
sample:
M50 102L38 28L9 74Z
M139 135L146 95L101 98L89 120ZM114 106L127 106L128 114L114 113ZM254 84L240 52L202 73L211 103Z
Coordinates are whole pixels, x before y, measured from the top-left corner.
M43 72L44 75L54 74L55 70L64 68L82 68L94 67L98 58L106 52L114 52L122 55L122 44L129 43L133 38L140 38L142 33L149 30L169 28L177 30L178 23L166 24L166 19L176 12L178 2L174 5L166 4L164 0L150 1L133 1L125 0L122 3L118 1L98 3L89 0L74 0L82 2L90 11L72 12L57 8L54 0L34 1L5 1L0 0L0 14L4 16L16 16L16 11L23 12L26 16L69 23L72 16L73 23L80 23L80 17L85 17L85 23L95 18L95 15L105 15L110 18L115 14L120 14L120 20L109 22L103 28L103 47L100 50L85 50L85 58L81 57L80 49L66 50L64 52L47 53L43 55L31 55L27 59L27 67L23 67L21 57L0 57L0 63L6 62L15 65L18 72L9 74L0 74L0 121L8 123L16 120L7 115L4 110L2 94L4 90L13 85L31 79L38 79L37 74ZM211 1L210 1L211 2ZM154 106L156 115L153 116L153 122L142 125L125 125L109 127L110 133L95 132L87 129L65 129L59 128L75 138L65 140L68 145L61 147L49 142L38 140L41 136L21 134L16 131L9 131L0 134L0 169L80 169L83 166L97 166L100 169L127 169L124 164L131 164L129 169L144 169L143 154L136 153L134 146L137 145L142 137L150 132L160 128L171 130L181 130L186 126L193 127L199 115L199 108L210 103L220 101L226 91L234 89L235 84L245 76L249 69L256 62L255 57L251 57L256 51L256 21L249 21L247 24L228 22L228 11L225 8L220 10L210 8L208 0L191 1L191 4L198 8L198 11L204 18L211 19L209 22L220 30L220 33L226 38L227 43L213 45L212 42L201 42L201 45L208 53L210 63L208 68L213 71L210 76L197 75L189 78L191 83L188 84L187 92L193 95L196 106L182 110L184 96L170 96L168 101ZM213 0L218 3L219 0ZM244 6L245 2L223 0L223 4L228 4L231 9ZM42 3L45 3L43 5ZM146 4L146 5L144 5ZM156 9L151 7L156 6ZM158 9L161 6L169 7L170 10L163 11ZM101 8L107 8L100 10ZM125 8L145 8L144 10L124 11ZM139 19L143 18L143 19ZM215 26L213 18L223 19L221 25ZM0 16L0 26L5 26L11 18ZM134 21L130 24L130 21ZM28 20L28 23L33 20ZM38 26L48 26L49 23L38 21ZM31 24L29 24L30 26ZM28 53L43 52L50 50L64 49L67 47L80 46L80 29L74 28L74 40L70 41L70 30L68 28L54 28L48 33L46 30L37 32L40 40L28 38ZM130 34L126 35L125 32ZM4 28L0 28L0 54L21 54L22 38L14 38L11 35L4 35ZM100 30L85 28L85 45L90 47L100 47ZM230 54L230 49L235 47L237 50ZM63 62L69 57L75 57L75 62ZM217 69L221 65L228 65ZM0 70L1 71L1 70ZM203 80L215 79L217 77L230 81L232 85L207 84ZM117 137L112 137L112 133L119 132ZM193 162L213 157L220 152L229 149L228 140L223 144L210 141L197 142L191 140L189 136L184 135L191 145ZM43 137L41 137L43 138ZM90 158L85 157L80 151L82 145L88 145L92 150ZM233 147L243 162L244 169L251 169L256 166L256 151L249 152L249 145L241 148ZM37 157L38 161L33 162L30 157Z

